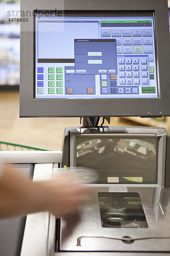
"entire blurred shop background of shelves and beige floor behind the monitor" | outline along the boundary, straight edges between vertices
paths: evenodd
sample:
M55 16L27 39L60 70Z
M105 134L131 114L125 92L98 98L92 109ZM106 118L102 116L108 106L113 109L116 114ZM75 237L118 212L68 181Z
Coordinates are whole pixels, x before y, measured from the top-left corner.
M0 141L61 150L64 128L79 126L79 118L19 118L20 23L8 21L9 10L19 11L20 1L0 1ZM170 132L169 117L111 118L110 125L160 126Z

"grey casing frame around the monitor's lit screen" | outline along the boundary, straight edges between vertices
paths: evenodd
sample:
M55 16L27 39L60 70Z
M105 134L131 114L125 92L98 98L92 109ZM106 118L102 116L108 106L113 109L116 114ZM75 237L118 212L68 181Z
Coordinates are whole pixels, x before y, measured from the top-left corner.
M34 99L34 16L21 22L20 117L170 116L167 0L21 0L21 11L151 11L155 15L158 99Z

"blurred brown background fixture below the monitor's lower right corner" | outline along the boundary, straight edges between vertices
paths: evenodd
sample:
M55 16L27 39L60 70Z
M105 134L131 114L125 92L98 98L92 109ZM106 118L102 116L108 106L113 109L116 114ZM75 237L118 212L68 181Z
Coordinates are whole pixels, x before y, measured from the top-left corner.
M154 126L154 127L164 127L170 132L170 117L165 118L141 118L141 117L123 117L124 119L130 120L132 122L139 123L140 125Z

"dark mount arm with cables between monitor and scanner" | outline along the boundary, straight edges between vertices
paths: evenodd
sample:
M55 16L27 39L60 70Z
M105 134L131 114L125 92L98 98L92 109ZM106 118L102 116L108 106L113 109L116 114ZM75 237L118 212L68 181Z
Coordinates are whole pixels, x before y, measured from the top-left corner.
M110 119L110 117L103 117L102 123L99 125L100 117L80 117L80 125L82 123L84 127L101 127L105 120L110 124Z

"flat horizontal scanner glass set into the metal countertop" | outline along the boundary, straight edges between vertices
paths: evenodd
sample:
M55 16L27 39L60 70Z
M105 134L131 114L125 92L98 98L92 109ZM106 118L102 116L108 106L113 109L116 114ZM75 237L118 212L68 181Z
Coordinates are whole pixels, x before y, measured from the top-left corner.
M148 227L139 193L100 192L102 227Z

